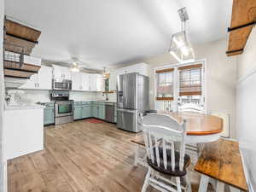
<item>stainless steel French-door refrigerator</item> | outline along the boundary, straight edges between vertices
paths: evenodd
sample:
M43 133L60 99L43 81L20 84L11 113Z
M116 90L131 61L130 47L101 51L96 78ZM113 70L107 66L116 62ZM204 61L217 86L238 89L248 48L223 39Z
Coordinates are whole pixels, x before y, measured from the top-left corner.
M139 73L125 73L117 80L117 126L131 132L141 131L138 114L149 109L148 77Z

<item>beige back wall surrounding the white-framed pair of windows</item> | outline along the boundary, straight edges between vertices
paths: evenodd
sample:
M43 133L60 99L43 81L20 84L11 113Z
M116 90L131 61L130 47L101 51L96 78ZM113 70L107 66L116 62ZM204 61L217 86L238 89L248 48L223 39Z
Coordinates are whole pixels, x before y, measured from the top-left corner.
M226 39L196 45L195 57L196 60L207 60L207 112L229 113L230 137L236 138L236 56L227 57L226 49ZM153 68L177 64L169 53L148 58L143 62ZM150 79L149 89L154 93L154 70L151 72ZM150 94L149 101L153 108L154 94Z

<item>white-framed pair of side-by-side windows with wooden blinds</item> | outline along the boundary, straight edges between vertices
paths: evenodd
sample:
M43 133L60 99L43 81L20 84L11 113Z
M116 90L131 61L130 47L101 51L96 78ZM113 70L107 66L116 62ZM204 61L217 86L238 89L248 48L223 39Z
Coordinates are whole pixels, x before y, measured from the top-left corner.
M154 108L179 111L185 106L205 110L205 73L203 63L176 65L155 71Z

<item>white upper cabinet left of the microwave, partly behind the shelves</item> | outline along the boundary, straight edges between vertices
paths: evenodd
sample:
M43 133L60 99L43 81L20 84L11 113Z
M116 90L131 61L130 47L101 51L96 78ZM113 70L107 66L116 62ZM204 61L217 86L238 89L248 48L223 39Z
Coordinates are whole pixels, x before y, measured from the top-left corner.
M42 66L37 74L22 84L20 89L26 90L51 90L52 89L52 67Z

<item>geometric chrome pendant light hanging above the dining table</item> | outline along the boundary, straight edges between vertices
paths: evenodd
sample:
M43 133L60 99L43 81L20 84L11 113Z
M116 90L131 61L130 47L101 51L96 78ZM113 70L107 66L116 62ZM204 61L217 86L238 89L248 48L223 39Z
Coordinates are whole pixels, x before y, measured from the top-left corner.
M181 32L172 35L169 53L178 61L195 61L195 54L192 45L189 43L186 32L186 20L189 15L186 8L178 9L177 13L181 19Z

